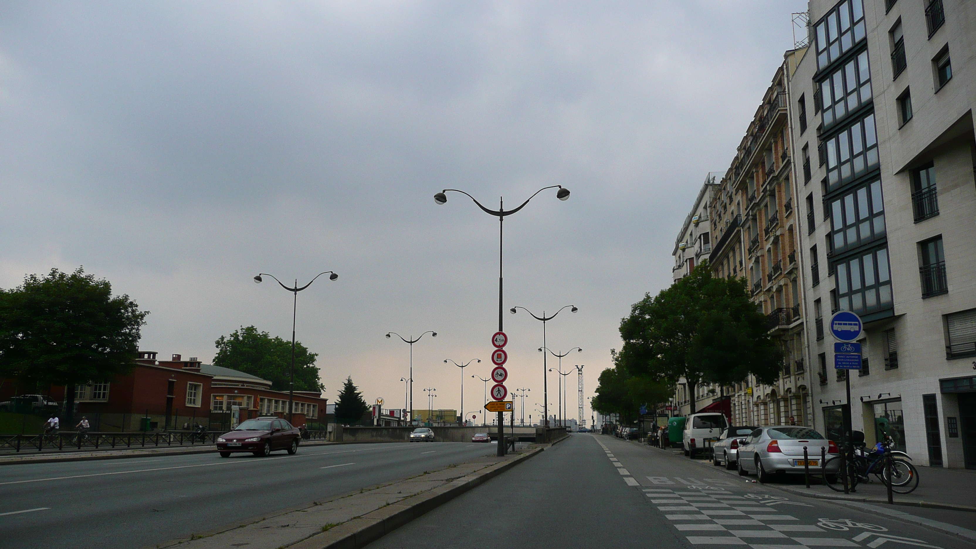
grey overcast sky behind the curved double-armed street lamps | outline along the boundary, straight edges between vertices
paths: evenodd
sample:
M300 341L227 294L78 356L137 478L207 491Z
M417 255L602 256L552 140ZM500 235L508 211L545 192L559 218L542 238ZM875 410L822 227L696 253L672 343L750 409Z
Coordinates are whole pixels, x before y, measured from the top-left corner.
M0 4L0 286L84 266L150 311L143 350L210 361L241 325L319 354L326 396L481 407L505 307L582 347L586 395L630 305L671 282L706 173L725 171L798 0ZM506 313L509 389L543 400L542 323ZM549 360L553 365L553 360ZM575 375L571 387L575 389ZM473 382L473 383L472 383ZM549 402L557 402L556 376ZM570 394L575 416L575 394ZM519 412L521 402L516 403ZM552 412L550 412L552 413ZM590 419L587 406L586 417Z

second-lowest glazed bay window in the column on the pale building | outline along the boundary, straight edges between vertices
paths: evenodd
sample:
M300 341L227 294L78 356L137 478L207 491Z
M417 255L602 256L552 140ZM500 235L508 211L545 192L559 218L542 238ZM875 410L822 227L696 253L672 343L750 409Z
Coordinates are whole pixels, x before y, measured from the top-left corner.
M884 234L880 181L852 190L831 202L834 253L871 242Z

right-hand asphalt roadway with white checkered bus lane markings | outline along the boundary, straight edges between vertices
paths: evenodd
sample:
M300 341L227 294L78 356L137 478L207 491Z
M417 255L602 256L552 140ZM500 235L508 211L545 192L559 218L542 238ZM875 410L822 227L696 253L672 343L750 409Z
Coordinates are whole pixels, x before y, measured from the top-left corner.
M753 484L670 451L576 434L369 548L881 545L974 547L954 535Z

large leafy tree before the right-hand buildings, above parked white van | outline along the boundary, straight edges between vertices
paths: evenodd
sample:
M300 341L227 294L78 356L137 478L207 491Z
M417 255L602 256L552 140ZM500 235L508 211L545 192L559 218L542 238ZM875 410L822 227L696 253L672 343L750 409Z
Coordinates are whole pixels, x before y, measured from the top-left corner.
M748 374L771 383L782 362L745 280L713 277L708 262L658 295L645 294L621 320L620 334L618 361L631 375L669 385L683 377L689 395L701 383L728 385Z

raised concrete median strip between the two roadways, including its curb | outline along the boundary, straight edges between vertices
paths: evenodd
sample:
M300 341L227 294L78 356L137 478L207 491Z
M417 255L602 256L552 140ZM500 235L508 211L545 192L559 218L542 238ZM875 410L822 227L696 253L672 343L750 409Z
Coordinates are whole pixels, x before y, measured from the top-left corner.
M549 444L546 444L548 446ZM504 458L484 457L417 477L371 486L153 545L156 549L338 549L363 547L435 507L537 455L531 447Z

